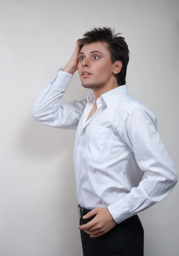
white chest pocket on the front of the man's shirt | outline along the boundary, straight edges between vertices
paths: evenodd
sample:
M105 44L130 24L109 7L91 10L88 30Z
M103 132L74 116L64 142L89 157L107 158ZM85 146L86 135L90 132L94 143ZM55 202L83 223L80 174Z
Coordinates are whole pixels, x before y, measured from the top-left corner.
M106 163L113 144L114 131L107 127L92 125L87 133L85 157L96 164Z

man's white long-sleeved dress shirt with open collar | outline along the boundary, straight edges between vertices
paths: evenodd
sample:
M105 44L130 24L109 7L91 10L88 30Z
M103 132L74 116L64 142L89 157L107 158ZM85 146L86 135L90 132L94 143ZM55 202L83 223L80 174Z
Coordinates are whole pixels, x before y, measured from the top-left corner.
M62 103L73 75L61 70L39 94L32 117L43 125L76 129L73 161L80 206L108 208L121 223L166 198L178 174L160 140L156 116L127 93L126 84L97 101L91 90L86 99ZM95 102L97 110L87 121Z

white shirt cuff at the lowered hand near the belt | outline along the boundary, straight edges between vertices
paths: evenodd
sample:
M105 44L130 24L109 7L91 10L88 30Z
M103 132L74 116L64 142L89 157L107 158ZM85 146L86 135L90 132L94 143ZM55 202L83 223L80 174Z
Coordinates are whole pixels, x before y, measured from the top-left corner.
M120 201L115 202L107 206L110 214L112 215L115 222L118 224L124 221L127 218L132 217L135 214L132 214L127 206L126 198L122 198Z

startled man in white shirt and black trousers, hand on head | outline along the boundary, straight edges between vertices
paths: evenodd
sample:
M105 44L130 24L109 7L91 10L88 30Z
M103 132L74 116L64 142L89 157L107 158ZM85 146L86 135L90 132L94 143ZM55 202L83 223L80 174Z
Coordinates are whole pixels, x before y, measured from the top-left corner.
M94 28L78 39L32 111L43 125L77 129L73 160L84 256L143 256L137 214L166 198L178 181L156 116L127 93L130 52L119 34ZM76 70L92 91L79 102L62 103Z

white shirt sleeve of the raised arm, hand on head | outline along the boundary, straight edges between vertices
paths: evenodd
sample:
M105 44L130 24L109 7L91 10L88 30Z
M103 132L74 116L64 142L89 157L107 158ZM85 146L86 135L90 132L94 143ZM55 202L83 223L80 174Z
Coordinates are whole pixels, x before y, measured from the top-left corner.
M63 93L73 76L62 70L58 70L55 79L41 90L32 110L32 117L43 125L75 130L87 100L62 103Z

